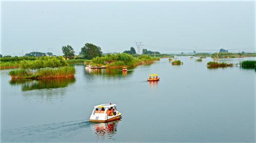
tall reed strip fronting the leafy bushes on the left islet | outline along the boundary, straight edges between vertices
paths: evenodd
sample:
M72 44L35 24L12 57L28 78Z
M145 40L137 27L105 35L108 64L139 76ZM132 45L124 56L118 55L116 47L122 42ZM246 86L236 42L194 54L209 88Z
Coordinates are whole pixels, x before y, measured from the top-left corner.
M15 69L9 72L12 79L52 79L52 78L68 78L73 77L76 70L72 66L58 68L40 68L33 69Z

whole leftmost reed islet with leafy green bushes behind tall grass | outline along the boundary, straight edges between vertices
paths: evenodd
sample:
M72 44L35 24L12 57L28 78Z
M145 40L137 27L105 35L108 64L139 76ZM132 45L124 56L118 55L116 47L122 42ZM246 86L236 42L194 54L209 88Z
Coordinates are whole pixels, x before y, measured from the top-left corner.
M11 70L12 79L52 79L74 77L76 70L68 66L62 57L40 57L37 60L20 61L20 68Z

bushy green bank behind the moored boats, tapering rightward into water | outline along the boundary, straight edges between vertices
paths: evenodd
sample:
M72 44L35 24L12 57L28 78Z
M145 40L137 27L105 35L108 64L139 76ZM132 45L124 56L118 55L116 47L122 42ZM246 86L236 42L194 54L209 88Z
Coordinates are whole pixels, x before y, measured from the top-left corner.
M106 67L122 67L122 66L136 66L148 62L154 62L160 60L159 58L153 58L149 55L141 55L133 57L126 53L108 54L102 57L96 57L92 59L92 62L96 65L105 65Z

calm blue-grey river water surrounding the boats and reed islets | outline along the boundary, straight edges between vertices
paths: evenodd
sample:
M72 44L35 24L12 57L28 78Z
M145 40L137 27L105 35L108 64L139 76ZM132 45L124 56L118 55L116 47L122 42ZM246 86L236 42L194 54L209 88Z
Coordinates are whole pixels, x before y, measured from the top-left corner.
M75 78L57 80L11 80L1 70L1 142L254 142L255 70L178 59L127 73L76 64ZM246 59L255 60L221 61ZM104 103L116 103L121 120L89 122Z

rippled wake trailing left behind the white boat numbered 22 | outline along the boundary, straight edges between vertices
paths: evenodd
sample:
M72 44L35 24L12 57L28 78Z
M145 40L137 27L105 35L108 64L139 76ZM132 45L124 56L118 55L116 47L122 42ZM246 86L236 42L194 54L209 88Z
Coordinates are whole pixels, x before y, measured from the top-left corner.
M84 120L52 123L1 131L1 142L45 142L54 138L69 138L91 126Z

